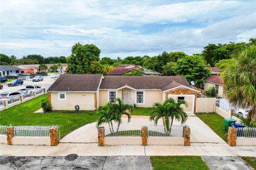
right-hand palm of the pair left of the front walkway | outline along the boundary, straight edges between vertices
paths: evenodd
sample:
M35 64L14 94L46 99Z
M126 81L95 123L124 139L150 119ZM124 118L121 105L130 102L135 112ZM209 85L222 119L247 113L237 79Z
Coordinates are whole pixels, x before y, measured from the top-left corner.
M119 126L122 123L122 115L126 115L128 117L128 122L131 121L131 115L126 110L131 109L132 105L124 105L123 101L120 98L116 98L117 103L114 103L114 119L115 122L118 123L116 134L118 133Z

